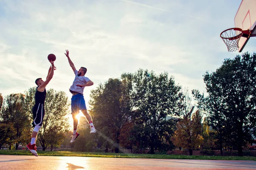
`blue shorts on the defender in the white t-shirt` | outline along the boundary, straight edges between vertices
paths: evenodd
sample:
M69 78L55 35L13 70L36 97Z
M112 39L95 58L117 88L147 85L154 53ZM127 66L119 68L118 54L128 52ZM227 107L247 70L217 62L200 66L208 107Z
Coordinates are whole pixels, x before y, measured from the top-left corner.
M71 114L77 114L80 110L87 110L85 106L84 96L76 94L71 98Z

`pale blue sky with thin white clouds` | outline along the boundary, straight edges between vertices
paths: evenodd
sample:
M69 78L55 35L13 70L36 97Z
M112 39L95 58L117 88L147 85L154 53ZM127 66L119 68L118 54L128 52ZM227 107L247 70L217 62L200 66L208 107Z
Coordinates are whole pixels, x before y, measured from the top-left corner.
M0 0L0 93L24 93L47 77L48 54L55 54L47 89L65 91L72 68L86 67L94 82L139 68L168 72L189 91L206 92L203 75L215 71L228 52L220 33L234 27L241 0ZM251 38L243 52L253 53Z

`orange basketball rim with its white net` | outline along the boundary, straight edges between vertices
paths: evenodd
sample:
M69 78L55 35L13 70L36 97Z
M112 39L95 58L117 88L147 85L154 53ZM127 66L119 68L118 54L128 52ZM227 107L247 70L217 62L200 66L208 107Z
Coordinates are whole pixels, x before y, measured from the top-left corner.
M239 40L243 35L243 30L241 28L229 28L221 32L221 38L227 45L227 50L230 52L239 49Z

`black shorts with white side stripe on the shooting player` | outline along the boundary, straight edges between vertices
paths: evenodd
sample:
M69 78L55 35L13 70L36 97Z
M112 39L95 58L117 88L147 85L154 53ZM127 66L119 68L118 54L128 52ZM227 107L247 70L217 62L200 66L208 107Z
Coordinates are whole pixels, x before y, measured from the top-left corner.
M42 126L43 120L44 120L44 105L41 103L35 104L35 106L32 109L33 113L33 122L32 125L35 127L35 125Z

